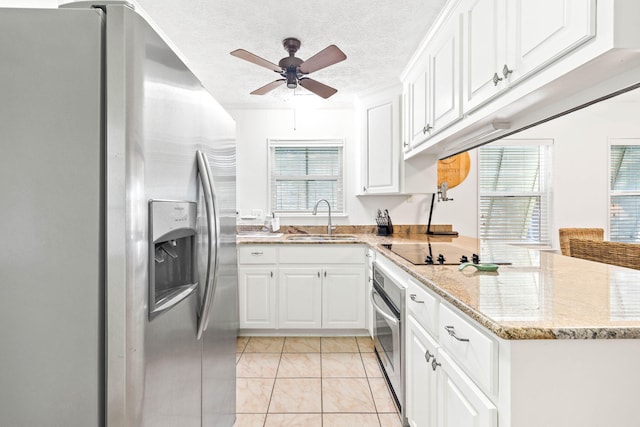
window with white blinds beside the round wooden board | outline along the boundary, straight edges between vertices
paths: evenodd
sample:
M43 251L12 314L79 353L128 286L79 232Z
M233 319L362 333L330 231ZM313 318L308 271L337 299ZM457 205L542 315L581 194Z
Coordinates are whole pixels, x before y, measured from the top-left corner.
M481 147L480 238L549 245L550 140Z

